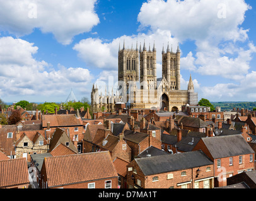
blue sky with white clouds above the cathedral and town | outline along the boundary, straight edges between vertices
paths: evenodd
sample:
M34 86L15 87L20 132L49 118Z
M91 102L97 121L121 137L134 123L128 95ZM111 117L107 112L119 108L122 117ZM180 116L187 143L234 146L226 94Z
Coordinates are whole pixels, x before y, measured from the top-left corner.
M145 41L158 77L179 44L181 89L191 75L199 100L256 101L255 19L255 0L0 0L0 99L90 100L117 81L119 44Z

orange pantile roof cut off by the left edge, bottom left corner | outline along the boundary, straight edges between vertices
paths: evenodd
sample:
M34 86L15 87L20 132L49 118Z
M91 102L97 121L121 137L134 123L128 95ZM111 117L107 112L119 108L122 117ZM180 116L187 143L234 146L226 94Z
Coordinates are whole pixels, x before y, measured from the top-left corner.
M29 183L26 158L0 161L0 188Z

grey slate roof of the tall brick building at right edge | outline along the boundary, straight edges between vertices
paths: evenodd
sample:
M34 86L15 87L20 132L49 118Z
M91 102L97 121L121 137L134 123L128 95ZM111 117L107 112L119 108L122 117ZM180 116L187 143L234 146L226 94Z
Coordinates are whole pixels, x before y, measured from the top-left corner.
M254 153L241 134L202 138L213 158L225 158Z

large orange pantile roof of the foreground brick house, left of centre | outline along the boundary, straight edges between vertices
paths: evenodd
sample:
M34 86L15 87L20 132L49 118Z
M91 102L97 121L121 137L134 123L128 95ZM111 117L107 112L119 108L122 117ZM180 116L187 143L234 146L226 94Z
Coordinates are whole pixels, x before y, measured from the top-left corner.
M109 151L45 158L49 187L118 177Z

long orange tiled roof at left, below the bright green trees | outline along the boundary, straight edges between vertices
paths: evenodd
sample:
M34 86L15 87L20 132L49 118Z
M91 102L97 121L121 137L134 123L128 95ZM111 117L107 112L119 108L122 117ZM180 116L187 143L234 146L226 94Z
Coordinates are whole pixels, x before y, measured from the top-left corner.
M82 126L81 119L78 119L75 114L54 114L54 115L43 115L42 126L47 127L47 122L50 122L50 127L60 126Z

